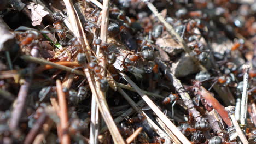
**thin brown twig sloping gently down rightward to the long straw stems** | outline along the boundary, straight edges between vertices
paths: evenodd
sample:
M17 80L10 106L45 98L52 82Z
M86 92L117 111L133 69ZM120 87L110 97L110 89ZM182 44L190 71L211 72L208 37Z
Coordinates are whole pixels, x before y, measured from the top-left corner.
M48 64L48 65L51 65L54 68L68 71L69 73L74 73L74 74L85 76L85 74L82 71L75 70L75 69L66 67L64 65L49 62L49 61L46 61L44 59L40 59L40 58L28 56L28 55L23 55L23 56L21 56L21 58L24 59L25 61L30 61L30 62L39 63L39 64Z

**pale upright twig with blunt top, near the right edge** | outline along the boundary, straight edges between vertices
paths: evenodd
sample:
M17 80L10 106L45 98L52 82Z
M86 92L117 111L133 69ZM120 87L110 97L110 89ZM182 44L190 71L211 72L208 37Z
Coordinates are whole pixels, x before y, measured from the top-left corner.
M248 101L248 78L249 78L250 65L243 65L243 70L245 71L243 75L243 93L241 99L241 111L240 111L240 123L242 125L246 124L247 118L247 101Z

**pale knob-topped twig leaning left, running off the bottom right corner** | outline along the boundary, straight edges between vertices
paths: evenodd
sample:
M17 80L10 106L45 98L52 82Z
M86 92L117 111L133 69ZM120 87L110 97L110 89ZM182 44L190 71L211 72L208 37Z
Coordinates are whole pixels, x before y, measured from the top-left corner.
M228 106L225 107L225 110L228 111L229 117L231 118L231 121L236 129L236 133L238 134L240 140L242 141L243 144L249 143L246 139L246 136L243 134L243 131L241 130L238 122L236 121L236 117L234 115L235 112L235 106Z

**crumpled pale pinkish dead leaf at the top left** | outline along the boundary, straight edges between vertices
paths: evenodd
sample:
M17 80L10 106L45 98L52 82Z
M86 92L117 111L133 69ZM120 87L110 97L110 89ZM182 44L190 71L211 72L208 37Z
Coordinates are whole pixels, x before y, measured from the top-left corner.
M34 3L30 3L29 5L27 5L27 8L31 9L31 20L33 26L40 25L43 20L43 17L49 14L47 11L44 10L44 7L40 4L36 5Z

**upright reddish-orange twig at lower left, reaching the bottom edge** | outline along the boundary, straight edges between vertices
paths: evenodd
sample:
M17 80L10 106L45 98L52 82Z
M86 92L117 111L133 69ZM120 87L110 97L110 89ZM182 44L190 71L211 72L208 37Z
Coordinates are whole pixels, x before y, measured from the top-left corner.
M59 100L59 106L60 106L60 125L62 130L61 143L69 144L70 137L67 131L65 131L68 128L67 102L66 102L65 93L62 91L62 85L60 80L56 80L56 88L57 88L57 94L58 94L58 100Z

